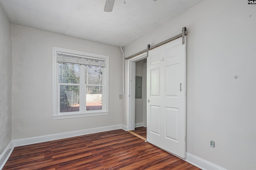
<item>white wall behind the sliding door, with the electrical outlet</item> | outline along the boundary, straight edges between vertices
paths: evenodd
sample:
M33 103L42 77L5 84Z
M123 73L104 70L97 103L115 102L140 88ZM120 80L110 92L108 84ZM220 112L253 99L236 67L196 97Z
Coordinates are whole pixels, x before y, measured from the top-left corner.
M184 26L187 152L228 170L256 169L256 5L204 0L127 45L126 57L180 34ZM126 84L128 68L126 61ZM127 115L128 109L125 125Z

